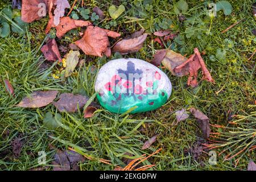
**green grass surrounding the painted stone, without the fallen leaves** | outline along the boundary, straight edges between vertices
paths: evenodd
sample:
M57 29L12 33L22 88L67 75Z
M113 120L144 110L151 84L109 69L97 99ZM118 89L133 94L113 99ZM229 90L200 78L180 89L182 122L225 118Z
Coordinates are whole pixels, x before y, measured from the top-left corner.
M122 1L134 3L133 1ZM141 26L148 26L147 31L154 32L157 27L154 20L168 18L172 20L173 31L179 32L179 42L170 41L166 48L190 55L193 48L198 47L205 51L203 56L207 67L216 80L216 84L200 82L197 88L187 88L187 77L172 76L167 69L163 69L170 78L174 87L171 98L160 109L141 114L113 114L100 109L93 118L82 118L81 112L76 114L61 113L65 127L59 127L55 131L47 130L43 125L44 114L51 111L56 113L52 105L42 109L21 109L15 107L27 94L35 90L59 90L60 93L82 93L91 97L94 94L93 85L97 70L107 61L113 59L99 59L98 57L85 57L85 65L76 70L76 74L66 80L52 77L56 72L55 64L46 71L40 72L38 64L43 60L39 51L45 40L44 27L47 18L30 24L30 30L24 36L11 34L8 38L0 39L0 169L2 170L28 170L39 167L38 152L46 151L47 166L51 167L54 152L49 143L56 148L67 149L74 147L80 152L90 156L94 160L85 160L80 163L82 170L112 170L114 165L124 167L122 157L126 152L133 154L131 158L138 158L142 154L152 154L160 147L163 150L152 158L143 162L144 165L156 164L156 170L237 170L246 169L250 159L256 160L255 150L242 155L240 162L235 166L235 160L224 161L229 152L236 152L239 142L227 152L217 156L217 165L208 163L208 154L202 154L200 158L193 158L188 148L195 146L196 141L203 141L199 126L193 117L172 126L175 122L176 110L196 107L207 114L210 124L228 126L230 131L236 131L237 125L230 125L230 115L243 115L250 117L243 122L251 123L250 130L255 130L255 56L247 60L255 49L255 36L251 33L256 28L255 19L251 13L251 1L232 1L232 15L225 16L222 12L212 20L205 16L203 2L195 0L187 1L189 9L184 15L192 17L185 22L179 22L179 17L173 11L174 3L170 1L154 1L152 10L146 11L147 16L142 21L129 22L127 16L135 17L138 8L130 7L122 14L112 26L113 20L105 20L98 26L122 32L122 37L139 30ZM72 3L72 1L70 1ZM88 1L85 3L90 9L92 5L99 6L107 11L112 4L120 5L120 1ZM6 6L5 5L2 6ZM79 5L79 4L78 4ZM221 31L233 23L244 20L231 28L228 32ZM57 39L59 44L67 44L78 39L77 36L67 34L63 39ZM150 61L156 49L160 49L157 43L152 42L153 36L148 36L141 51L125 57L137 57ZM232 40L234 46L226 48L225 39ZM113 43L113 42L112 42ZM226 59L216 56L217 49L226 51ZM95 69L96 68L96 69ZM5 92L3 80L8 78L15 89L15 97L12 98ZM59 93L59 94L60 94ZM251 116L252 115L252 116ZM239 119L239 118L238 118ZM246 125L247 126L247 125ZM244 126L242 126L243 128ZM220 129L211 127L212 132L220 132ZM226 130L225 130L226 131ZM221 131L222 132L222 131ZM158 140L145 151L141 150L143 142L159 134ZM11 141L22 137L23 148L18 158L13 155ZM225 135L226 136L226 135ZM224 148L214 149L217 153ZM238 156L239 157L239 156ZM113 165L99 162L100 159L110 160ZM50 168L51 169L51 168Z

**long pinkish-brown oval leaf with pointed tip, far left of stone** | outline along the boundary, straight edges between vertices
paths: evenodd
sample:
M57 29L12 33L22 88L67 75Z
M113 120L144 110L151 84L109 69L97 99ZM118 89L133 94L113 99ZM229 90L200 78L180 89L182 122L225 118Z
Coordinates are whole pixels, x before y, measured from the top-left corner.
M21 102L19 102L18 107L30 107L38 108L50 104L56 97L58 91L48 90L48 91L36 91L29 97L24 97Z

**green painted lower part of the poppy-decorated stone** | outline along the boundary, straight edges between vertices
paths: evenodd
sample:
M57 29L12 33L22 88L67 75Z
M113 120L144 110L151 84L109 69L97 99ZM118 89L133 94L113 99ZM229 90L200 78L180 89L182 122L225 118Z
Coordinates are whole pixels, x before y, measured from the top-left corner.
M137 106L135 110L131 111L134 114L158 109L166 103L168 95L164 90L160 90L154 97L148 94L113 94L109 91L103 96L97 94L97 99L102 107L112 113L125 113L131 107Z

